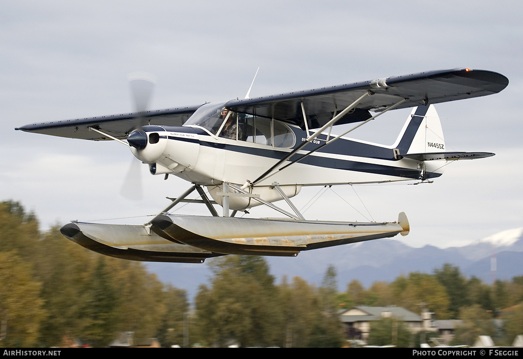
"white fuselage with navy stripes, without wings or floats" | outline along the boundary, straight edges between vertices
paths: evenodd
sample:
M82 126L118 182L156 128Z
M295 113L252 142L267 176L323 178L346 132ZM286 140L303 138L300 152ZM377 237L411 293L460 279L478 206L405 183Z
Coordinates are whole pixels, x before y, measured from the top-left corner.
M208 128L194 124L182 127L145 126L145 147L131 147L131 150L142 162L150 164L151 173L174 174L191 183L208 186L211 196L220 203L221 197L215 195L220 190L217 186L224 182L242 186L254 181L307 137L306 131L299 127L276 124L275 120L266 121L265 134L258 130L264 129L263 124L258 122L255 124L256 132L253 132L255 136L244 136L243 139L217 136ZM437 177L442 173L438 170L440 161L417 161L399 155L400 152L411 152L411 143L419 137L418 129L423 128L420 125L419 121L407 120L400 137L392 146L340 138L288 168L272 172L254 187L251 186L251 193L259 194L270 202L281 199L281 195L270 188L274 184L292 197L299 193L301 186L418 180L422 174L424 178ZM280 138L277 138L275 128L278 128ZM285 140L281 141L284 137ZM320 134L282 166L327 140L328 134ZM244 197L236 200L240 202L232 204L231 209L255 205Z

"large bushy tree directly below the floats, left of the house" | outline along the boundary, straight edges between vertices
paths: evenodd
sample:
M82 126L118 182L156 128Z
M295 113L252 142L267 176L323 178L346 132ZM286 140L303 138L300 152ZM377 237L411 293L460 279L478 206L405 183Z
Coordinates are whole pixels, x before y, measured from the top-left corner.
M211 270L211 287L200 286L195 299L201 341L214 346L276 345L281 338L279 306L274 277L263 257L220 257L211 261Z

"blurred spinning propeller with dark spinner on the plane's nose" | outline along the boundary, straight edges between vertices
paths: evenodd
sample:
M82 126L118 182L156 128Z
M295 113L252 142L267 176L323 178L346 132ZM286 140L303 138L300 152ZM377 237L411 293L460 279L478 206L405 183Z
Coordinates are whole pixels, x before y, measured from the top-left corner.
M147 134L142 130L142 127L146 124L143 115L153 93L153 76L145 73L132 73L129 75L129 86L137 117L135 118L135 124L133 126L134 131L127 137L127 142L131 147L141 151L145 149L147 145ZM140 162L132 159L129 171L120 190L122 197L135 201L143 200L140 167Z

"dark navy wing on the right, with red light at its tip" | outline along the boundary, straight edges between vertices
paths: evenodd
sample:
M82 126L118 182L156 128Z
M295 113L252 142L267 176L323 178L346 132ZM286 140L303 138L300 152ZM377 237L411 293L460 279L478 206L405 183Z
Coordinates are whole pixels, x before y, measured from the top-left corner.
M310 121L309 128L319 128L333 118L335 111L339 113L366 92L372 95L356 106L354 114L349 113L339 120L338 125L366 120L370 115L363 118L362 111L381 111L402 99L406 101L395 108L491 95L502 91L507 85L508 79L496 72L453 69L232 100L226 106L233 111L274 118L302 128L304 110Z

